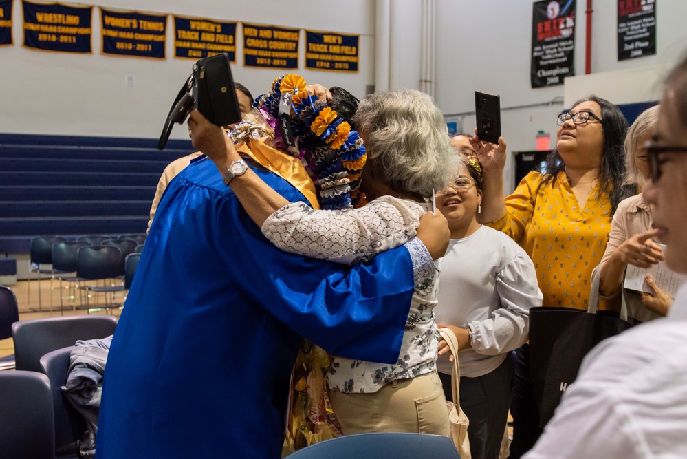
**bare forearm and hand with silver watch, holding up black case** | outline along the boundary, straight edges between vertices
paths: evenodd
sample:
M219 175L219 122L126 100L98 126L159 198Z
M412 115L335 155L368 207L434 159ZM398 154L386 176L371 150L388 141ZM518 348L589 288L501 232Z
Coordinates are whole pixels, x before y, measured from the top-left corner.
M241 156L234 148L234 144L230 138L226 138L225 142L226 153L212 155L212 162L215 163L219 172L224 175L232 162L241 159ZM252 171L248 169L243 175L234 178L230 183L232 191L239 198L243 209L246 210L251 220L258 226L263 226L267 218L274 213L274 211L281 209L289 203L282 195L274 191L265 184L263 180Z

